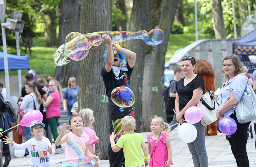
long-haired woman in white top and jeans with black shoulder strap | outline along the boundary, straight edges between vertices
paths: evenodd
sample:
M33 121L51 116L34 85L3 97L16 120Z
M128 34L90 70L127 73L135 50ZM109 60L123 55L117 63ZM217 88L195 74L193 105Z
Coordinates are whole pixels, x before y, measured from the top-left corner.
M31 110L36 109L39 111L40 104L42 104L41 95L38 92L37 87L32 82L26 83L25 91L26 91L27 95L24 97L24 99L20 105L20 110L24 111L24 114L22 117L24 117L24 115ZM29 139L31 139L30 127L23 126L23 130L25 133L26 141L28 141ZM26 149L25 156L27 156L27 155L29 155L29 152Z

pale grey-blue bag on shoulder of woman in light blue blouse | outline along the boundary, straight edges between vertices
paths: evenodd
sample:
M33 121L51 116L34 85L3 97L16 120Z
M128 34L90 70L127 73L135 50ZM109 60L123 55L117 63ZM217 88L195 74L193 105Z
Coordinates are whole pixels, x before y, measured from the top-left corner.
M256 94L247 82L246 90L236 104L236 118L239 123L246 123L256 118Z

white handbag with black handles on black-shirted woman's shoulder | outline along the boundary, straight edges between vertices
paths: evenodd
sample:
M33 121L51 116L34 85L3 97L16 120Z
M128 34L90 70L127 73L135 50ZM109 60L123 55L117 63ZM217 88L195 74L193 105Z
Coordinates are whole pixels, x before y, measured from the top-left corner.
M218 111L219 105L214 99L212 94L213 91L209 90L207 84L204 81L203 83L206 85L208 91L202 95L196 106L202 110L203 118L201 120L201 124L206 126L217 120L216 113Z

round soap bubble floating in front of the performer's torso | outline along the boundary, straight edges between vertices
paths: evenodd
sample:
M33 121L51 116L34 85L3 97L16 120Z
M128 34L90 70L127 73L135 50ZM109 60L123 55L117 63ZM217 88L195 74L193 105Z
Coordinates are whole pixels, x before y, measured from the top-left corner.
M126 86L119 86L112 90L111 100L119 107L131 107L135 102L133 91Z

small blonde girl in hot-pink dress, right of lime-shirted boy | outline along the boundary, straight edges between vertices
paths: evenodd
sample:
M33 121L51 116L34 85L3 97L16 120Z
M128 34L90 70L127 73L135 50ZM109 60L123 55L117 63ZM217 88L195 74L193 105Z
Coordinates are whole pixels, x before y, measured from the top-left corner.
M147 135L148 152L150 153L149 167L173 165L168 134L171 131L169 124L165 123L161 117L155 116L151 121L150 129L153 134Z

